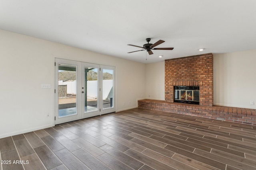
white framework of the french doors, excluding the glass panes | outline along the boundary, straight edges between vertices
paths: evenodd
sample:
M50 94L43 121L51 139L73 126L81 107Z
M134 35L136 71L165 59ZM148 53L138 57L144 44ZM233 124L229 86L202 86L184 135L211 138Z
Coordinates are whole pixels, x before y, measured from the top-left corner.
M76 111L77 114L76 115L70 115L67 117L58 117L58 63L62 63L62 64L70 64L70 65L76 65ZM88 64L88 65L86 65ZM84 87L84 84L82 83L82 76L84 76L84 74L82 73L82 67L83 66L89 66L89 67L93 67L95 66L95 68L100 68L100 71L98 70L98 110L99 112L97 114L94 114L94 112L87 112L84 113L84 106L82 106L83 102L85 102L85 99L82 98L82 87ZM111 108L106 108L103 109L103 69L110 69L113 70L113 107ZM70 121L75 121L75 120L79 120L79 119L84 119L87 117L93 117L93 116L97 116L97 115L102 115L102 114L106 114L106 113L113 113L116 112L116 67L115 66L107 66L107 65L102 65L102 64L94 64L94 63L86 63L86 62L82 62L82 61L72 61L72 60L67 60L67 59L60 59L60 58L55 58L55 118L54 118L54 124L58 125L61 123L66 123L66 122L70 122ZM85 89L83 89L85 90ZM83 108L82 108L83 107ZM71 118L72 117L72 118ZM70 119L71 118L71 119Z

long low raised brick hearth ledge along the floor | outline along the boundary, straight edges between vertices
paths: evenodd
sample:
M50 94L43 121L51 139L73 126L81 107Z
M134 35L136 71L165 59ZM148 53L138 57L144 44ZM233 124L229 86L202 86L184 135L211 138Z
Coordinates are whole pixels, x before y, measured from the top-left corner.
M194 104L173 103L165 102L162 100L149 99L138 100L138 107L256 125L256 109L226 106L200 106Z

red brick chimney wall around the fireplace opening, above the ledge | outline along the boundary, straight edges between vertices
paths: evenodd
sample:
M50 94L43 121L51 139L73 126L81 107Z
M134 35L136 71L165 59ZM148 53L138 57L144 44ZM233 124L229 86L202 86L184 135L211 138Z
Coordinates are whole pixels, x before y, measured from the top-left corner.
M166 60L166 102L174 102L174 86L200 86L200 105L213 106L212 53Z

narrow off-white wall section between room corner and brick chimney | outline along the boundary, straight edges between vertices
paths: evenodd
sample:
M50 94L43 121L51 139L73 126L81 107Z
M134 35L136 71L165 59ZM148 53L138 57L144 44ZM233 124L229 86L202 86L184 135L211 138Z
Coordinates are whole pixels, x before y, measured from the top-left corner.
M164 61L146 65L146 98L164 100Z

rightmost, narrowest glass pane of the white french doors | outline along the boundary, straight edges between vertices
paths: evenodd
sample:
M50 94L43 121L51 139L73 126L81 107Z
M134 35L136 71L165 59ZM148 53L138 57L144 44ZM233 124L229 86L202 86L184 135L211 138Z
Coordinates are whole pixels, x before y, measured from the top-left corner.
M102 88L103 88L103 109L113 108L114 98L113 98L113 79L114 70L103 69L103 80L102 80Z

